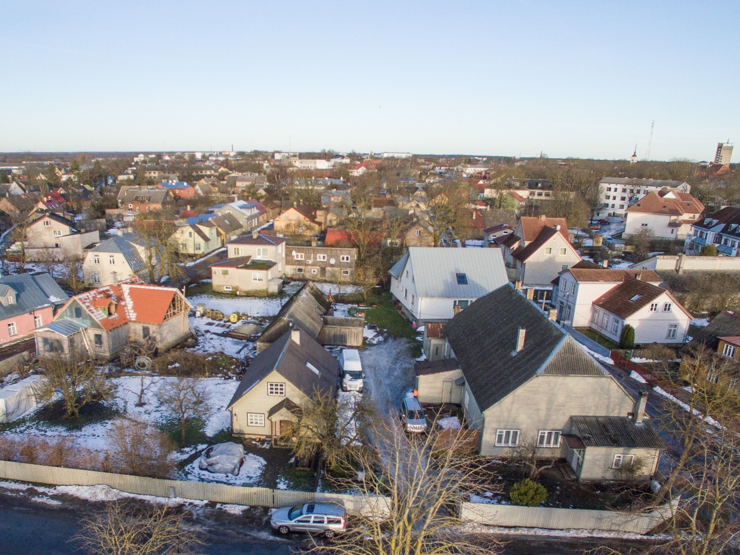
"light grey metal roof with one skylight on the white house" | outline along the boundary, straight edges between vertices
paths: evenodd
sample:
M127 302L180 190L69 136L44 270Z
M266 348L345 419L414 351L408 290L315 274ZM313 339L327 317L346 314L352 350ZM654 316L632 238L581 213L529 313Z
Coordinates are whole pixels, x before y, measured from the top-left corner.
M391 275L400 276L411 262L417 297L471 299L508 283L501 250L495 248L409 247L401 260ZM467 284L458 283L458 273L465 274Z

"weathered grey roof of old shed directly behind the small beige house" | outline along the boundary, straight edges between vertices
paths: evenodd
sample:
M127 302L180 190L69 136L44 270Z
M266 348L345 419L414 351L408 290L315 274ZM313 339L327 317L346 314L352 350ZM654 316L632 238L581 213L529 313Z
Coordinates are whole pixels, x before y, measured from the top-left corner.
M280 308L280 312L263 331L258 343L274 342L291 325L317 339L323 326L322 316L329 308L331 305L326 296L312 282L306 282L306 285L297 290L283 308Z

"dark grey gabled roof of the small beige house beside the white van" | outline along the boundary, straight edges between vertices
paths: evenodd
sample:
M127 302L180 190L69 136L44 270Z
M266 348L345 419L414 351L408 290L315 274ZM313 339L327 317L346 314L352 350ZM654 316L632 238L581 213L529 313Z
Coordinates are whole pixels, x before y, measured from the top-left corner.
M292 330L288 330L272 345L255 356L226 408L234 405L248 391L251 391L272 370L280 373L280 376L307 396L313 396L316 391L334 394L339 375L339 361L308 333L302 330L297 330L297 332L300 336L300 345L292 340ZM309 368L307 364L316 368L318 373Z

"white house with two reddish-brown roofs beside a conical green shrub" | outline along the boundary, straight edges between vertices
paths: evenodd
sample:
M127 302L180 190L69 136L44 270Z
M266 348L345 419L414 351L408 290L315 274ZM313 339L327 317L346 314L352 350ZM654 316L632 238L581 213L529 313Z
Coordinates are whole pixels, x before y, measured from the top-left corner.
M615 282L620 274L622 279ZM682 343L693 316L670 291L656 285L659 281L652 270L573 268L558 280L558 319L591 328L616 343L625 325L635 329L639 345Z

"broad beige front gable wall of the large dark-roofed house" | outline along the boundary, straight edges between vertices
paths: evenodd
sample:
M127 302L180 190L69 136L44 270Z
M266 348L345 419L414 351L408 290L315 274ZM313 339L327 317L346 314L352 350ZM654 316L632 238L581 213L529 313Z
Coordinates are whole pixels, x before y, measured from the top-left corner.
M535 376L485 411L480 453L509 451L496 447L498 429L519 430L522 445L536 441L541 430L565 431L573 415L627 416L633 407L633 399L611 376ZM539 451L549 456L553 449Z

